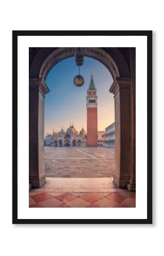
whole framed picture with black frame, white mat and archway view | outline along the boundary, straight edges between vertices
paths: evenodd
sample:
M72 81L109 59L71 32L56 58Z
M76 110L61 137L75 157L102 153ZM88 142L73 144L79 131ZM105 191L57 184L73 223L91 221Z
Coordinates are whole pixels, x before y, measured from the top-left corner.
M12 31L13 224L152 224L152 31Z

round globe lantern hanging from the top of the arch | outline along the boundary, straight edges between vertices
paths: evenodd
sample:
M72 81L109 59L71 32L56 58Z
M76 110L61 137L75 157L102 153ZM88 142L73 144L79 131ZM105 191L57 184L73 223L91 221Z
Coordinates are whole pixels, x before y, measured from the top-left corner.
M74 84L80 87L84 84L84 78L80 75L80 66L84 63L83 48L75 48L75 61L76 65L79 66L79 75L74 77Z

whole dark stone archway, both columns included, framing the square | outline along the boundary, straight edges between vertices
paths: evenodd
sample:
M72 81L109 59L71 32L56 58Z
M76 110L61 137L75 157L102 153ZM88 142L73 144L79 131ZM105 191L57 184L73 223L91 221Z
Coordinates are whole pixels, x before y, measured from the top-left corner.
M113 77L109 90L115 101L114 183L135 191L135 48L83 48L83 53L104 64ZM40 187L46 179L44 104L45 94L49 93L46 76L55 64L74 55L74 47L29 48L29 180L32 187ZM68 138L65 143L69 146Z

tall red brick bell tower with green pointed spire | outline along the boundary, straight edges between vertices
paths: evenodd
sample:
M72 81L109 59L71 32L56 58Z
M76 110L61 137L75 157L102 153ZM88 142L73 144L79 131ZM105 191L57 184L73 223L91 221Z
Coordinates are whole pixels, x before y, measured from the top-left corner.
M97 146L97 90L91 74L87 90L87 146Z

